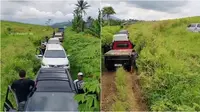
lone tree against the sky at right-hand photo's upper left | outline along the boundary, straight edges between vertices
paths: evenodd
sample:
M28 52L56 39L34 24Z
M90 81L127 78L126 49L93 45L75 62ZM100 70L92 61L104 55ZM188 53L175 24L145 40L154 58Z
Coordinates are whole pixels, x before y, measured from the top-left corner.
M114 9L109 6L109 7L103 7L102 9L102 15L103 17L107 17L107 19L110 21L110 15L113 15L113 14L116 14ZM110 25L110 22L109 22L109 25Z

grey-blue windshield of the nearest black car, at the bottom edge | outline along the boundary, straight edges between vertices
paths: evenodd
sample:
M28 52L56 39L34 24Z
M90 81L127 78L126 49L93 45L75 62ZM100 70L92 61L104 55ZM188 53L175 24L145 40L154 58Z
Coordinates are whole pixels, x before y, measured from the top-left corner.
M27 102L26 111L77 111L78 103L70 92L35 92Z

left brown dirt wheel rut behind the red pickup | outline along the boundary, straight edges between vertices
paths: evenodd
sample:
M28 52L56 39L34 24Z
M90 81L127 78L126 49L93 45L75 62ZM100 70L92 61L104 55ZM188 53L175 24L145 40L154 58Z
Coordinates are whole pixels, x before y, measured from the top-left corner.
M109 111L116 94L115 72L103 72L101 75L101 88L101 111Z

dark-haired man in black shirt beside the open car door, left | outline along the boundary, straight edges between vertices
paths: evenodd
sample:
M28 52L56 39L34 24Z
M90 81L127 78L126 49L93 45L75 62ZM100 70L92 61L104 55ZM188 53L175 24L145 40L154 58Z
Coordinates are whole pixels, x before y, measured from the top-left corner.
M25 79L26 71L20 70L19 72L20 79L14 81L11 85L11 88L14 90L18 102L19 102L19 110L23 110L27 97L33 87L35 86L35 82L30 79Z

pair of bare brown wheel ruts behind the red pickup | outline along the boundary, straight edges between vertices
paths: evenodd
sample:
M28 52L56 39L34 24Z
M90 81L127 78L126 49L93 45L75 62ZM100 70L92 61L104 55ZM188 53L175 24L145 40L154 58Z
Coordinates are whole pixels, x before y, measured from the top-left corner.
M147 111L146 101L142 96L138 75L127 72L127 87L129 88L128 103L130 111ZM101 111L111 111L116 96L115 72L103 72L101 76Z

